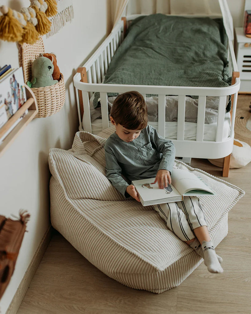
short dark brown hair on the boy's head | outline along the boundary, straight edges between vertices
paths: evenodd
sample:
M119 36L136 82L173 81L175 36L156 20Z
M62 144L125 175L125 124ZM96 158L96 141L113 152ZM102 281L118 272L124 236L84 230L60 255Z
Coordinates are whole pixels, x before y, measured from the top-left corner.
M118 95L110 112L116 124L129 130L142 130L147 127L147 105L137 91Z

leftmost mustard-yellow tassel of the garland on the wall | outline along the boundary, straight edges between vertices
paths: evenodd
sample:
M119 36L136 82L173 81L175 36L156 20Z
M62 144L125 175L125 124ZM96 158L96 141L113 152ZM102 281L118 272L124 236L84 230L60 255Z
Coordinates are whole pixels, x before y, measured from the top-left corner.
M20 41L23 29L19 21L13 17L12 9L2 6L0 11L3 13L3 16L0 16L0 39Z

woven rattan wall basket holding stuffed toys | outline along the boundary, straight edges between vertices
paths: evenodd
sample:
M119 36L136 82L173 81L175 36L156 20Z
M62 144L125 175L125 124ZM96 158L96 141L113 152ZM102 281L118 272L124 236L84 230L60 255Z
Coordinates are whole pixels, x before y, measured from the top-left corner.
M39 57L40 53L44 53L44 43L40 39L34 44L19 45L19 64L23 67L24 82L31 81L32 72L31 65L33 61ZM32 88L38 105L38 113L36 118L45 118L58 112L65 103L65 83L64 76L60 73L58 83L39 88Z

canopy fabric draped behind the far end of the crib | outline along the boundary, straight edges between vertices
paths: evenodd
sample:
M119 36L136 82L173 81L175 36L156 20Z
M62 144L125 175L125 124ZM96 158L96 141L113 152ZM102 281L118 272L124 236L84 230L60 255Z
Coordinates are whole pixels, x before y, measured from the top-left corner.
M234 40L233 19L227 0L111 0L115 25L127 14L206 14L222 15L229 40Z

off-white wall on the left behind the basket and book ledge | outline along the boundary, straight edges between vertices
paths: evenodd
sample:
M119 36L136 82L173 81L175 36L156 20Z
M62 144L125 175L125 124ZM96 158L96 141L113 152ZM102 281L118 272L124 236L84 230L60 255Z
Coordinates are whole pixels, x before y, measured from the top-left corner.
M20 10L30 5L27 0L2 0L1 5ZM0 214L18 216L19 209L31 214L19 251L15 271L0 301L5 313L20 281L49 227L48 152L51 147L71 148L78 131L78 117L73 75L94 49L106 37L107 0L74 1L74 19L56 35L43 36L45 52L55 52L57 63L64 74L66 103L58 113L47 118L36 118L0 158ZM0 41L0 66L19 66L16 43Z

